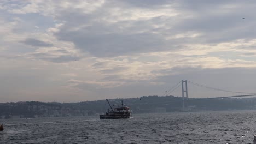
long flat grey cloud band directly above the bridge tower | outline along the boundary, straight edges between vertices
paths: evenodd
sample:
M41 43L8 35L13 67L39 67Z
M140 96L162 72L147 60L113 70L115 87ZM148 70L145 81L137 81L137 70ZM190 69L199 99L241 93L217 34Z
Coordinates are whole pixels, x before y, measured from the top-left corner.
M169 71L170 75L166 75ZM176 71L175 75L171 75L171 71ZM197 83L205 83L208 86L227 87L231 85L240 86L241 89L245 83L253 82L252 77L256 76L255 68L220 68L220 69L200 69L197 68L172 68L164 71L158 71L163 73L163 76L159 76L156 82L170 83L170 80L190 80ZM254 74L255 73L255 74ZM253 86L249 86L253 87Z

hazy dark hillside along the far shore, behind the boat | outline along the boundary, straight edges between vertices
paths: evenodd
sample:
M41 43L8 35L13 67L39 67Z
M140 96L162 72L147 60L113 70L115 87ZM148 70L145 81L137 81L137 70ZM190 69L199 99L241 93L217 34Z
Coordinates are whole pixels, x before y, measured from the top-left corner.
M180 97L144 96L141 99L110 99L109 102L112 106L117 106L120 105L121 100L131 107L133 113L182 111L182 98ZM108 108L106 100L80 103L43 103L39 101L1 103L0 118L88 116L103 113ZM256 98L189 99L188 108L189 111L256 109Z

